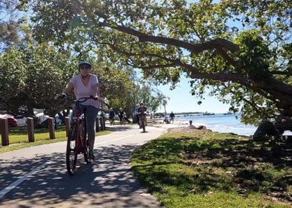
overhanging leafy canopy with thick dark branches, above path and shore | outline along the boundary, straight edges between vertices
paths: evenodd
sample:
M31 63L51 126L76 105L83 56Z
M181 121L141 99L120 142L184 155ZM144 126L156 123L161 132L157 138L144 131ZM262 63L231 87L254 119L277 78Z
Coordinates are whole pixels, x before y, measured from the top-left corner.
M186 76L194 95L209 88L243 122L258 123L292 116L289 2L40 0L26 7L40 42L83 46L159 83L175 86Z

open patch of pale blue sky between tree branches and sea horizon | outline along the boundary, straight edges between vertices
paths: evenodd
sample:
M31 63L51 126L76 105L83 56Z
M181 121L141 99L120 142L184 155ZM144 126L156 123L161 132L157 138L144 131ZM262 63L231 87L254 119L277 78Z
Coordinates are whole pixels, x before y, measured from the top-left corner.
M220 103L216 97L205 96L205 100L201 105L197 105L199 98L190 94L190 83L185 78L181 78L179 85L170 91L170 85L161 85L157 87L170 100L166 105L166 112L213 112L222 113L229 110L229 105ZM157 112L164 112L161 106Z

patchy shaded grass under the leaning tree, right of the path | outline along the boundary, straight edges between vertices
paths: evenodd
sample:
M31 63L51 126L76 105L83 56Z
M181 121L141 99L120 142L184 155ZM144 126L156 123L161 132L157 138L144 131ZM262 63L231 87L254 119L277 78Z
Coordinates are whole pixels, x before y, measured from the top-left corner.
M132 166L165 207L291 207L291 153L233 134L170 131L138 148Z

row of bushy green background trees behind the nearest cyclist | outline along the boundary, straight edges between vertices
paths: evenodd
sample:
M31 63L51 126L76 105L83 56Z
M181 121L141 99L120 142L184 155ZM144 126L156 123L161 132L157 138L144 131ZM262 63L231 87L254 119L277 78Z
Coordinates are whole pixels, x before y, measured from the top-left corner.
M155 97L155 85L138 93L140 78L132 79L136 72L131 67L88 54L82 58L93 63L92 72L99 77L102 96L106 96L109 106L132 112L138 101L148 97L152 98L150 103L156 107L154 110L160 105L161 96ZM54 116L69 110L70 103L55 101L54 96L62 92L72 76L78 73L80 59L71 50L36 44L27 35L21 44L10 46L0 55L0 103L14 113L21 108L33 114L33 108L40 108Z

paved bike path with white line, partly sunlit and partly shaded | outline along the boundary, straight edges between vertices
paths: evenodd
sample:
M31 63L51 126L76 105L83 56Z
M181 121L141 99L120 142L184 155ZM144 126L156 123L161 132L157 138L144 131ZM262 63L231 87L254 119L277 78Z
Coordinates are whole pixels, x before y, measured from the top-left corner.
M166 129L115 128L95 139L93 162L80 155L74 176L66 172L66 142L0 154L0 207L161 207L133 176L131 153Z

